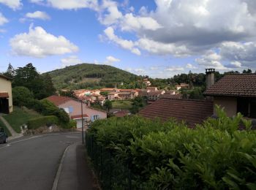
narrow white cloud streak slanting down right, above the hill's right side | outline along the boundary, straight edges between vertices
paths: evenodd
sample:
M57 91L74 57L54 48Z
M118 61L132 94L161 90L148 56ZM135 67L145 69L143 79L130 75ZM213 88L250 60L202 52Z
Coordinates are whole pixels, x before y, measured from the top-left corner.
M116 34L114 34L113 27L109 26L105 29L104 32L110 41L115 42L117 45L120 45L124 49L131 50L132 53L135 53L138 56L140 55L140 50L135 47L134 42L132 42L132 40L121 39L117 37Z

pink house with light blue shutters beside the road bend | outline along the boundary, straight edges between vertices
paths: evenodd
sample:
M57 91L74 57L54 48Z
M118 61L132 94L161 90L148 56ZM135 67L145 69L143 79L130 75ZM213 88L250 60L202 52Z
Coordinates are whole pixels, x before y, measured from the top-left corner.
M82 127L82 107L84 121L95 121L97 119L107 118L106 112L88 107L87 104L80 102L77 99L55 95L49 96L47 99L50 102L53 102L53 104L55 104L57 107L64 109L66 113L68 113L69 118L77 121L77 128Z

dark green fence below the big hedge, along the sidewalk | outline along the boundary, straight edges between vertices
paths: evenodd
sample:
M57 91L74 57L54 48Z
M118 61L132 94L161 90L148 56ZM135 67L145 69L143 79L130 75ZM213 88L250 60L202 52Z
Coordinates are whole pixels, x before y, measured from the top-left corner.
M129 170L129 165L121 164L112 153L97 145L94 137L86 133L86 149L102 189L140 189Z

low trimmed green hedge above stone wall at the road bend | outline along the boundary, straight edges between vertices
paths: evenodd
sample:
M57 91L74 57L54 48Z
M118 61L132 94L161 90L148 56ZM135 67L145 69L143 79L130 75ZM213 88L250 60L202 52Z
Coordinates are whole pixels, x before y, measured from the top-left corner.
M27 122L28 129L37 129L40 126L51 126L53 124L58 124L58 123L59 123L59 119L54 115L34 118Z

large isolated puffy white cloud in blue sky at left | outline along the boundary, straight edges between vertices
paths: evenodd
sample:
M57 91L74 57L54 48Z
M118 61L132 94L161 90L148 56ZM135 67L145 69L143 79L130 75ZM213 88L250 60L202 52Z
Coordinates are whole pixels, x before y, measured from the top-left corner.
M29 27L29 33L17 34L10 39L12 52L18 56L43 58L78 51L78 47L63 36L55 37L44 28Z

